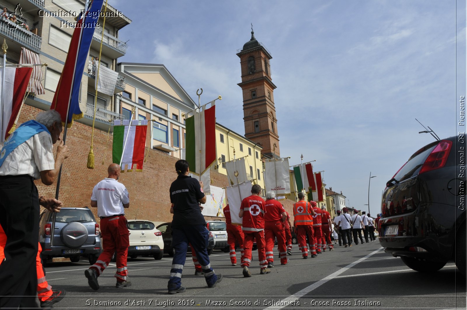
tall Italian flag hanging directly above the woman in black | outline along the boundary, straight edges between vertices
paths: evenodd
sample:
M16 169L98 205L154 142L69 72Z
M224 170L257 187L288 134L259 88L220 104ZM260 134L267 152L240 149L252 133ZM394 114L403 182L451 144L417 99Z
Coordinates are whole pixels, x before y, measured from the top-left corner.
M186 119L186 153L190 172L201 175L216 160L216 106L211 102L209 109L202 106L201 113L193 111Z

